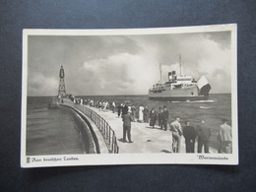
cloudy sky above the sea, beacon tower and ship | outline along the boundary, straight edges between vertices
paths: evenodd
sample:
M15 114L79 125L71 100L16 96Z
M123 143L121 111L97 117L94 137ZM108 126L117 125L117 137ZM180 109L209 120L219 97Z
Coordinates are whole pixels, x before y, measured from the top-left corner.
M28 96L57 96L59 70L76 96L147 95L168 71L206 76L210 94L231 92L230 32L29 35Z

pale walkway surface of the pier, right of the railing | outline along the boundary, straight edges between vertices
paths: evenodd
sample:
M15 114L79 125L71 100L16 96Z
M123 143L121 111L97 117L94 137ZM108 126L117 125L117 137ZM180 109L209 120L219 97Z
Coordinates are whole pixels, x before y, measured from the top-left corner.
M83 111L83 105L75 105ZM112 111L100 111L98 108L86 105L102 118L104 118L115 132L119 153L172 153L172 133L171 131L161 130L159 126L153 129L149 123L132 122L131 137L133 143L123 143L123 121L118 118L117 113ZM181 153L185 153L184 139L181 140Z

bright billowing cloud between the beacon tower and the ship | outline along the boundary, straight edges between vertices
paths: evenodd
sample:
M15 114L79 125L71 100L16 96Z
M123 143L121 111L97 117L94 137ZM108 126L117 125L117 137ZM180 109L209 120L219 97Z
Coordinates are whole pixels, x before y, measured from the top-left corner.
M154 57L130 53L118 53L106 59L91 60L85 62L83 67L83 74L90 77L90 82L94 82L88 87L90 95L145 94L148 92L149 82L155 83L155 72Z

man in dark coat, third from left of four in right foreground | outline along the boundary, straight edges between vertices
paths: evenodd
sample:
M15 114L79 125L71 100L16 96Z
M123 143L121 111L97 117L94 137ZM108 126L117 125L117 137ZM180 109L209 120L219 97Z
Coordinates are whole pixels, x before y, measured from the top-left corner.
M203 147L204 147L205 153L209 153L211 129L205 125L204 120L202 120L201 124L198 125L196 132L198 136L197 153L202 153Z

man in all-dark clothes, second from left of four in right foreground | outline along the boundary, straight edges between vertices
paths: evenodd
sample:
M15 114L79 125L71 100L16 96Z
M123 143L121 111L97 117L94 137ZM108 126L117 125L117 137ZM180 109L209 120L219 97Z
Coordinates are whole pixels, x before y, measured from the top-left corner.
M186 153L195 153L195 139L196 130L190 126L189 121L186 121L186 126L183 129L183 136L185 138Z

